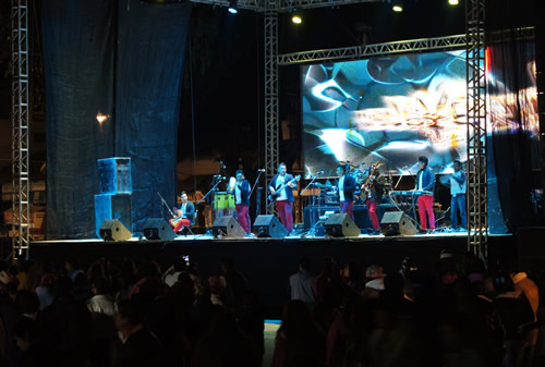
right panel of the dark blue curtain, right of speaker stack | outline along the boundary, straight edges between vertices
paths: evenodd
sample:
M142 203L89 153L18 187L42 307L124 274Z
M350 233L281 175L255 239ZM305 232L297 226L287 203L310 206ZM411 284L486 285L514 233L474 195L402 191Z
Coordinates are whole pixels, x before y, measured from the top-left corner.
M120 2L116 156L132 158L136 232L147 218L160 217L157 192L174 205L180 88L190 16L191 3Z

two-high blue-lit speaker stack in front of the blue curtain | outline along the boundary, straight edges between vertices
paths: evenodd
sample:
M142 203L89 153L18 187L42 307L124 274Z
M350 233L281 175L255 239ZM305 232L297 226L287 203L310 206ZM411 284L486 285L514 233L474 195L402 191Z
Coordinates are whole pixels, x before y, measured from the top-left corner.
M132 178L131 158L117 157L97 160L98 192L95 195L95 225L96 234L105 238L102 223L111 225L108 220L118 220L123 229L132 233ZM119 232L123 232L120 230ZM123 235L124 238L126 235ZM108 241L120 240L121 236L112 236Z

